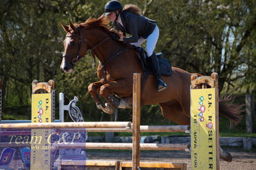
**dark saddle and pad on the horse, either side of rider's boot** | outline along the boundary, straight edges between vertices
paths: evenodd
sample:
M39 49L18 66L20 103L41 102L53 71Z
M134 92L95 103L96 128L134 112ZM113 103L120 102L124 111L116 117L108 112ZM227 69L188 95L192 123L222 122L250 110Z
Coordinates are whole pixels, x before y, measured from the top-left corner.
M141 60L142 70L145 73L152 74L153 70L151 69L150 64L147 61L147 53L143 47L135 47L137 51L137 55ZM159 62L159 68L161 75L171 76L173 74L173 70L171 70L171 63L168 59L162 58L162 52L156 54Z

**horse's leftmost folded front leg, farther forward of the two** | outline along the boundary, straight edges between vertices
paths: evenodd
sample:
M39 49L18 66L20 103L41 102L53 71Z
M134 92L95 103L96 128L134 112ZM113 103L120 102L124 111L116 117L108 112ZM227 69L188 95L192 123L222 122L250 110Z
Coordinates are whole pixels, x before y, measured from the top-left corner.
M89 86L88 86L88 91L90 93L90 95L92 96L92 98L94 99L94 102L96 103L97 107L105 107L105 105L103 104L103 102L99 99L98 96L98 91L99 88L103 85L103 81L98 81L98 82L92 82ZM100 108L99 108L100 109Z

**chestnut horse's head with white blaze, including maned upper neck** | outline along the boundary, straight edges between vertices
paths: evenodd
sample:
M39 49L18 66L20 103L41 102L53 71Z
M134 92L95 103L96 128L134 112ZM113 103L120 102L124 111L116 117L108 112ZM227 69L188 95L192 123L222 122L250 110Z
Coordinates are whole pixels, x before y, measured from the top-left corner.
M60 68L62 68L65 73L70 73L74 70L74 66L85 56L88 49L94 50L98 47L101 42L95 43L99 40L96 40L97 34L95 34L94 29L99 27L108 29L106 24L108 24L108 20L103 16L98 19L88 19L81 24L73 24L72 22L69 23L69 26L62 24L66 32L66 37L64 40L64 54ZM106 36L106 33L104 34ZM102 39L103 35L98 34L98 37ZM103 41L107 39L109 39L109 36Z

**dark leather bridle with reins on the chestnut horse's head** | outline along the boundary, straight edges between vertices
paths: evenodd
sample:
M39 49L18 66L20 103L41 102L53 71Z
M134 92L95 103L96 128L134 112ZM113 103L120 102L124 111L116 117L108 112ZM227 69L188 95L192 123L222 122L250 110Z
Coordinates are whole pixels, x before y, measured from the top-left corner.
M76 37L78 37L78 49L76 50L76 54L71 54L71 55L69 55L69 56L67 56L66 54L64 54L64 55L62 56L62 57L64 57L64 58L73 58L73 56L76 56L76 58L74 58L74 59L72 60L73 65L76 65L76 64L78 63L78 61L79 61L81 58L83 58L83 56L85 56L85 55L80 56L80 49L81 49L82 40L83 40L84 42L87 42L87 47L88 47L88 49L89 49L88 44L90 43L89 40L87 40L87 38L83 38L83 36L82 36L82 34L81 34L81 26L76 27L76 30L78 30L78 35L73 35L73 34L66 35L66 37L71 37L71 36L76 36ZM89 50L92 51L92 50L96 49L97 47L99 47L99 45L101 45L101 43L106 42L107 40L110 40L110 37L105 38L104 40L102 40L101 42L99 42L97 45L95 45L94 47L92 47L92 48L89 49ZM90 43L90 44L92 44L92 43Z

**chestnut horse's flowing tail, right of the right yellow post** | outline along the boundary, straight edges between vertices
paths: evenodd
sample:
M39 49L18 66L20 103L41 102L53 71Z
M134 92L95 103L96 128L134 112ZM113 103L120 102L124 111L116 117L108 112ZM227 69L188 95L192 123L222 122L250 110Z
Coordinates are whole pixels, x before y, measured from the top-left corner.
M219 114L230 120L232 125L237 125L242 120L242 112L244 112L244 105L233 104L234 97L221 97L219 100Z

